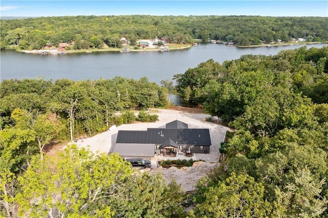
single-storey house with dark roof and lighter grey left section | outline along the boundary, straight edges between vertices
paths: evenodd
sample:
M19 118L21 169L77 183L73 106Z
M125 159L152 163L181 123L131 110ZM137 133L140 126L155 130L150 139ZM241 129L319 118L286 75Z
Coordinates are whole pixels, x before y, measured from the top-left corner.
M155 154L208 154L211 144L209 129L189 128L187 123L175 120L167 123L165 128L119 130L113 152L124 158L150 160Z

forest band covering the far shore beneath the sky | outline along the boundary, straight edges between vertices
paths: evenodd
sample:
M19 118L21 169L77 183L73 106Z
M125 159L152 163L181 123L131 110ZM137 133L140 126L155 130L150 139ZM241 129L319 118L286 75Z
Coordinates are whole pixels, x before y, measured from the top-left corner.
M1 46L41 49L59 42L72 43L72 49L120 47L120 37L131 45L138 39L164 37L169 43L191 43L209 38L233 41L236 45L259 45L265 41L308 42L328 40L326 17L262 16L62 16L0 20ZM74 42L74 43L73 43Z

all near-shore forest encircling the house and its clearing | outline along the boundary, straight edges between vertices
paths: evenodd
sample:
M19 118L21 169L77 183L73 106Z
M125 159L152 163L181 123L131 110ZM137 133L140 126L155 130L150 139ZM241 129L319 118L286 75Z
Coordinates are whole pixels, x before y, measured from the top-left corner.
M165 107L171 83L4 80L0 215L328 216L328 47L210 59L175 80L179 95L233 129L220 165L188 197L174 181L133 173L117 155L75 145L56 158L42 150L133 120L130 108ZM187 198L195 203L189 212L179 204Z

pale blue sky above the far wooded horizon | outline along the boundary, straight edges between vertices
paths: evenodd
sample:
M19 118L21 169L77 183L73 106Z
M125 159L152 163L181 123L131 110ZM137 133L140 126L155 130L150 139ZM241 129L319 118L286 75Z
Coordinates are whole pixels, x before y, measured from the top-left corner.
M1 16L77 15L259 15L328 17L328 0L320 1L2 1Z

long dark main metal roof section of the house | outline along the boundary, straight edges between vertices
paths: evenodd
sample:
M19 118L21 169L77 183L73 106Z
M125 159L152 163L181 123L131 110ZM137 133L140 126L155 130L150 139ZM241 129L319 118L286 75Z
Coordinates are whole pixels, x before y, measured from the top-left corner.
M163 144L169 138L178 145L211 145L210 130L198 128L148 128L147 131L119 130L116 143Z

